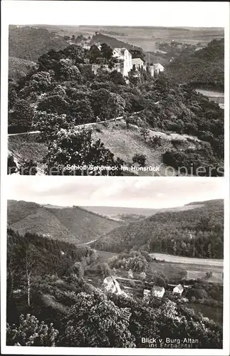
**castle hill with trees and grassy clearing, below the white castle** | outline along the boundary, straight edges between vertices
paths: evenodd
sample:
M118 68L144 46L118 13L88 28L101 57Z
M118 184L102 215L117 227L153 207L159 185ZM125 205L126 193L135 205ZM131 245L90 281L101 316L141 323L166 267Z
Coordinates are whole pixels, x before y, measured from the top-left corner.
M91 164L93 157L94 165L106 162L120 167L122 160L130 167L137 154L146 157L147 167L160 166L158 173L162 176L168 175L167 167L174 169L169 173L174 175L222 176L224 110L188 85L179 87L172 83L167 73L155 78L145 71L140 78L130 73L128 80L116 70L98 70L95 74L89 63L103 60L113 64L103 51L72 45L63 51L44 53L31 73L17 83L9 83L9 133L41 132L34 142L26 135L10 137L9 150L24 159L33 154L31 158L43 172L50 172L51 167L65 167L67 163L80 164L82 157L84 164ZM133 112L138 115L132 115ZM121 115L125 115L125 120L97 123L93 132L87 134L92 151L100 145L98 158L95 151L85 152L85 144L77 147L80 140L85 142L86 133L81 130L77 134L73 126L95 124L97 117L109 121ZM61 128L68 132L58 135ZM56 135L58 142L54 144ZM65 135L74 140L74 148L73 142L66 145ZM75 140L75 135L80 137ZM76 153L79 150L80 155ZM183 172L180 167L185 167ZM204 167L205 172L202 169L196 173L199 167Z

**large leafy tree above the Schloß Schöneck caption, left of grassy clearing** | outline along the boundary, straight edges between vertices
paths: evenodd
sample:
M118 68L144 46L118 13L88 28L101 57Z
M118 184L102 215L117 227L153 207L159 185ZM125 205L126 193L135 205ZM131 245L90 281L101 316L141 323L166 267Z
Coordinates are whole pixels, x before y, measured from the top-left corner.
M47 164L47 174L122 175L122 160L114 159L113 153L100 140L93 142L92 131L85 127L80 130L60 130L56 140L49 143L44 162Z

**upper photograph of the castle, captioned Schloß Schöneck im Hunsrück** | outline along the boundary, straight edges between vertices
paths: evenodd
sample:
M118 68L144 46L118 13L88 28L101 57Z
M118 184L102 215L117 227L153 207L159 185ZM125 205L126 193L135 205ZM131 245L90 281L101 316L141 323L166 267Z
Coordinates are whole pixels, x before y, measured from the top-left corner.
M7 170L224 176L224 28L10 25Z

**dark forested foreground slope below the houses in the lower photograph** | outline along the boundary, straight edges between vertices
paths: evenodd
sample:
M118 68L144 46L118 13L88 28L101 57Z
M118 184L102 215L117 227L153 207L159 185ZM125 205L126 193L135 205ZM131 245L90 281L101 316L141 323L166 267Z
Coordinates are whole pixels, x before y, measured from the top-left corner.
M194 347L221 348L221 326L177 300L105 293L75 274L78 261L96 259L90 248L9 230L6 344L146 347L142 335L189 335L199 339Z

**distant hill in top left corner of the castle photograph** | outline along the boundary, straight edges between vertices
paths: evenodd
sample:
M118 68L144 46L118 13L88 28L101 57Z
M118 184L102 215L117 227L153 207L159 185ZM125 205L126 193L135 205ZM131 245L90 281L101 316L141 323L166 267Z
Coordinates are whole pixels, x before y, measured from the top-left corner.
M59 51L68 46L63 36L46 28L9 26L9 57L36 62L51 49Z

